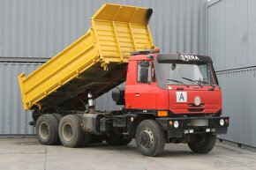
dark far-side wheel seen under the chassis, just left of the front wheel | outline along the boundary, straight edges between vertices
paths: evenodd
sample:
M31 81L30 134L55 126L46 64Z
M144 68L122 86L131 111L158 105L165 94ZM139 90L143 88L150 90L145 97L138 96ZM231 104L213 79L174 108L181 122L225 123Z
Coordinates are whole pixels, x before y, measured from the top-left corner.
M132 139L124 138L123 135L115 135L115 136L106 136L105 141L109 145L117 146L117 145L127 145L132 141Z

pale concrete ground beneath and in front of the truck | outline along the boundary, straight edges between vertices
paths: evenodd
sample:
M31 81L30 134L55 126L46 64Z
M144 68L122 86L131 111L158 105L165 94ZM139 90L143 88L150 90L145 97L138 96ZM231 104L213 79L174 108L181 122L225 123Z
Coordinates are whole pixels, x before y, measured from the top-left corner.
M256 169L256 152L216 144L208 154L192 153L186 144L166 144L161 157L140 155L132 141L127 146L105 143L85 148L45 146L35 138L0 138L0 169L47 170L161 170Z

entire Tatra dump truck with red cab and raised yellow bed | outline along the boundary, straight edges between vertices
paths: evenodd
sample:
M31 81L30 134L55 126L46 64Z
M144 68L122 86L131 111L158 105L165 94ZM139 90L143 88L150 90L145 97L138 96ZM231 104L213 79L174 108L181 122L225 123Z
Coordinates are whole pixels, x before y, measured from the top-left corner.
M216 135L227 133L211 58L160 53L148 26L152 13L104 4L85 35L30 75L19 75L41 144L126 145L135 138L143 155L158 156L168 143L207 153ZM110 90L109 100L121 109L96 110L94 100Z

